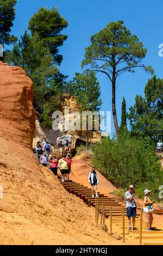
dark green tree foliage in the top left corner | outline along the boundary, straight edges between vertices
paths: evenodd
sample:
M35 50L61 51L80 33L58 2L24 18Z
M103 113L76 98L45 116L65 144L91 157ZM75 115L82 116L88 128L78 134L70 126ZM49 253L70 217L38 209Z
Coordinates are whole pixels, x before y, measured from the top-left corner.
M15 4L17 0L0 0L0 44L11 44L17 38L10 35L15 19Z

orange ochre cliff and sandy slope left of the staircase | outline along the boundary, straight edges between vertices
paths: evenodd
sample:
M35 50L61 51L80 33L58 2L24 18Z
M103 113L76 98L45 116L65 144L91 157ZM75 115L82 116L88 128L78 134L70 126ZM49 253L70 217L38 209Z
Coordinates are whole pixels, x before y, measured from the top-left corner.
M69 194L32 151L33 85L0 63L0 245L108 245L95 210Z

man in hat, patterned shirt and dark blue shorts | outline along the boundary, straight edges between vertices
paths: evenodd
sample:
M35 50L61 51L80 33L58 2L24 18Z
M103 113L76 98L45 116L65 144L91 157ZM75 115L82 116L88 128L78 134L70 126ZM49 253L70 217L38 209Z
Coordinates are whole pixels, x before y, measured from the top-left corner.
M133 217L133 230L138 230L135 227L135 218L136 218L136 203L134 198L134 186L130 185L129 190L125 193L126 198L126 210L128 217L128 229L131 229L131 217Z

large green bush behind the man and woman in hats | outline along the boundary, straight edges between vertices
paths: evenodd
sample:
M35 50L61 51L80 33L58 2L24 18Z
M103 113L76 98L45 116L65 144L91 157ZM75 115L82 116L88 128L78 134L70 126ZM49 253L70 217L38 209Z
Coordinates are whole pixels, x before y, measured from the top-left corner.
M158 156L151 144L131 137L121 131L118 141L103 138L93 149L93 164L118 188L127 189L130 184L143 196L146 188L158 198L158 187L163 184L163 172Z

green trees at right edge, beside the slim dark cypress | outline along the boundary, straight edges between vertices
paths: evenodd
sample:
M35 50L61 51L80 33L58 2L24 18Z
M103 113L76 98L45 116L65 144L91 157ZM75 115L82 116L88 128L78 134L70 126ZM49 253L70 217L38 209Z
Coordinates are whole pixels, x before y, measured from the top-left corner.
M135 105L129 109L131 132L134 136L149 136L153 143L163 133L163 80L153 76L145 87L145 98L136 95Z

